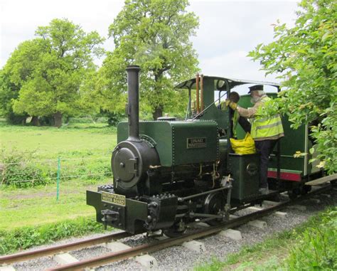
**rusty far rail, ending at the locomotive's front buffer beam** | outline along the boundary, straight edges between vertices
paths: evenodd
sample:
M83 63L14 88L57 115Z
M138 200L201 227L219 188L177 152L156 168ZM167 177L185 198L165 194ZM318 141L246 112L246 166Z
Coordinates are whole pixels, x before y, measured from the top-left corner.
M66 252L70 250L78 250L80 248L87 248L91 245L98 245L101 243L109 242L110 240L118 240L131 236L131 233L113 233L96 238L90 238L86 240L80 240L70 244L55 245L50 248L41 248L39 250L23 251L22 253L16 253L11 255L0 256L0 266L9 265L14 262L22 262L24 260L31 260L37 257L44 257L48 255L54 255L55 253Z

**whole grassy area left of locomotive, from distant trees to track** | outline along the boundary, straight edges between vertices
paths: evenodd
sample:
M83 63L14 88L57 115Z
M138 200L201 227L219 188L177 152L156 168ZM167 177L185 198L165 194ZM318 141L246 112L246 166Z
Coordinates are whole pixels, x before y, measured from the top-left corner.
M102 174L111 171L115 128L72 123L58 129L0 121L0 134L0 163L6 161L6 177L14 181L46 179L43 186L0 185L0 254L103 231L102 224L95 221L95 208L86 204L86 191L112 183L111 174ZM56 201L58 157L60 193ZM69 177L74 175L80 177Z

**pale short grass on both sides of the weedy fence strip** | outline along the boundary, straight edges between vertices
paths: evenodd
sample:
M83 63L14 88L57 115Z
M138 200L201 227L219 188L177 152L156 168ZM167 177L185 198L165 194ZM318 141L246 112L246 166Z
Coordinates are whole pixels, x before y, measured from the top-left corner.
M0 147L5 153L33 152L31 162L34 164L36 161L36 166L43 163L41 159L51 159L55 161L52 164L55 167L58 156L76 162L77 158L87 159L77 164L63 162L61 176L65 172L68 175L80 173L83 176L80 179L60 180L59 201L56 201L55 179L44 186L30 188L0 186L0 230L20 228L23 225L43 225L79 216L93 217L95 209L86 205L85 191L96 189L98 184L111 183L112 178L92 179L85 176L85 169L90 169L90 166L100 169L104 164L104 170L109 171L111 151L116 144L115 131L115 128L105 124L70 124L57 129L11 126L0 122ZM67 169L67 166L74 169Z

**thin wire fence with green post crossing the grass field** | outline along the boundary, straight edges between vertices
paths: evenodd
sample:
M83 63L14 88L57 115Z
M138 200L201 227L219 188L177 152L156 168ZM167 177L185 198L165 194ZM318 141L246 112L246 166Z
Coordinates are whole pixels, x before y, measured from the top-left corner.
M23 159L23 161L0 161L1 186L20 188L42 184L56 184L59 198L60 181L70 179L102 179L112 176L109 164L111 156L88 158Z

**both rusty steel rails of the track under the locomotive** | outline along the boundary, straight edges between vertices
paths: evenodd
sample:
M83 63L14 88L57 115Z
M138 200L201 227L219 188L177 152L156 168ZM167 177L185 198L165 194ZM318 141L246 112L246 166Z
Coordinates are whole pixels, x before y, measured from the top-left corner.
M289 205L297 203L298 201L302 201L306 198L311 198L311 196L313 196L314 194L322 193L323 191L328 191L330 187L331 187L330 185L320 186L319 188L316 188L314 191L308 193L307 195L296 198L295 200L289 200L289 201L277 203L274 206L270 206L260 211L255 211L254 213L250 213L246 216L241 216L239 218L235 218L230 221L220 223L216 226L211 226L209 228L197 230L193 233L181 235L176 238L158 240L155 243L151 243L151 244L138 245L134 248L129 248L127 250L121 250L119 252L114 252L114 253L107 253L105 255L100 255L99 257L92 257L90 259L80 260L79 262L70 263L68 265L58 265L48 270L83 270L88 267L98 267L98 266L105 265L108 263L117 262L119 260L125 260L129 257L134 257L134 256L145 254L145 253L151 253L157 250L162 250L164 248L169 248L173 245L179 245L188 240L203 238L208 235L213 235L215 233L218 233L221 230L243 225L249 222L250 220L255 220L257 218L267 216L271 213L274 213L275 211L279 211L282 208L285 208ZM87 248L92 245L99 245L101 243L107 243L111 240L119 240L122 238L127 238L129 236L131 236L131 234L125 233L125 232L114 233L114 234L102 236L100 238L91 238L87 240L78 241L75 243L57 245L51 248L33 250L33 251L23 252L23 253L16 253L14 255L5 255L5 256L0 257L0 265L9 265L14 262L32 260L38 257L55 255L57 253L61 253L61 252L64 253L64 252L71 251L71 250L78 250L80 248Z

